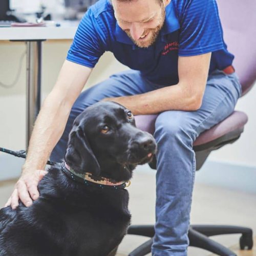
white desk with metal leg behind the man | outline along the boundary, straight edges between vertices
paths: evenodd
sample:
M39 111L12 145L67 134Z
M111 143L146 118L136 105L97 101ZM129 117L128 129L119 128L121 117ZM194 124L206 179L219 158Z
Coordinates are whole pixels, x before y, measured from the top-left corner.
M59 27L0 28L0 40L27 44L27 147L41 104L41 44L49 39L73 39L78 22L59 22Z

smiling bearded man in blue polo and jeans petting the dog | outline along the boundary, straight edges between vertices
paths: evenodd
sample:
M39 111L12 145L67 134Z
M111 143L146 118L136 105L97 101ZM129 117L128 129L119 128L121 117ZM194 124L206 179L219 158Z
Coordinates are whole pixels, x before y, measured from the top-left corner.
M131 70L80 94L104 51ZM230 115L241 95L232 60L215 0L100 0L81 20L42 105L22 176L7 205L15 208L20 198L30 206L56 144L51 160L63 158L75 117L97 101L113 100L135 115L159 114L152 253L186 255L196 166L193 142Z

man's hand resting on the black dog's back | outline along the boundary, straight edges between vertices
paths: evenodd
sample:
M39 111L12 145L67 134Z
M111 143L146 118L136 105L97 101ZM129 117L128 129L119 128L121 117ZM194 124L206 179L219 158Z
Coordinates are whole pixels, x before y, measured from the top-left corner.
M32 205L32 199L36 200L39 197L37 185L42 177L44 177L47 173L48 172L46 170L33 170L32 172L23 172L22 176L20 176L17 183L15 184L13 193L5 204L5 207L11 205L12 209L15 209L18 206L19 199L27 207Z

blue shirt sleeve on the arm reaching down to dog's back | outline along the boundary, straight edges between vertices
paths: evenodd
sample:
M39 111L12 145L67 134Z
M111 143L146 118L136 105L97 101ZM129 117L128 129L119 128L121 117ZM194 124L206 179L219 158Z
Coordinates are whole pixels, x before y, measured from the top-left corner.
M94 68L106 49L106 33L92 10L84 14L68 51L67 60Z

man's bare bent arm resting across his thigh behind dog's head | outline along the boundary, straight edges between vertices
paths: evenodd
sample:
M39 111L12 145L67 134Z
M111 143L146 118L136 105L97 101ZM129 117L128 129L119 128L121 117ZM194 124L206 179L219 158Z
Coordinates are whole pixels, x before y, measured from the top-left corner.
M152 92L106 98L130 109L134 115L158 114L167 110L195 111L202 104L211 53L179 57L179 83Z

